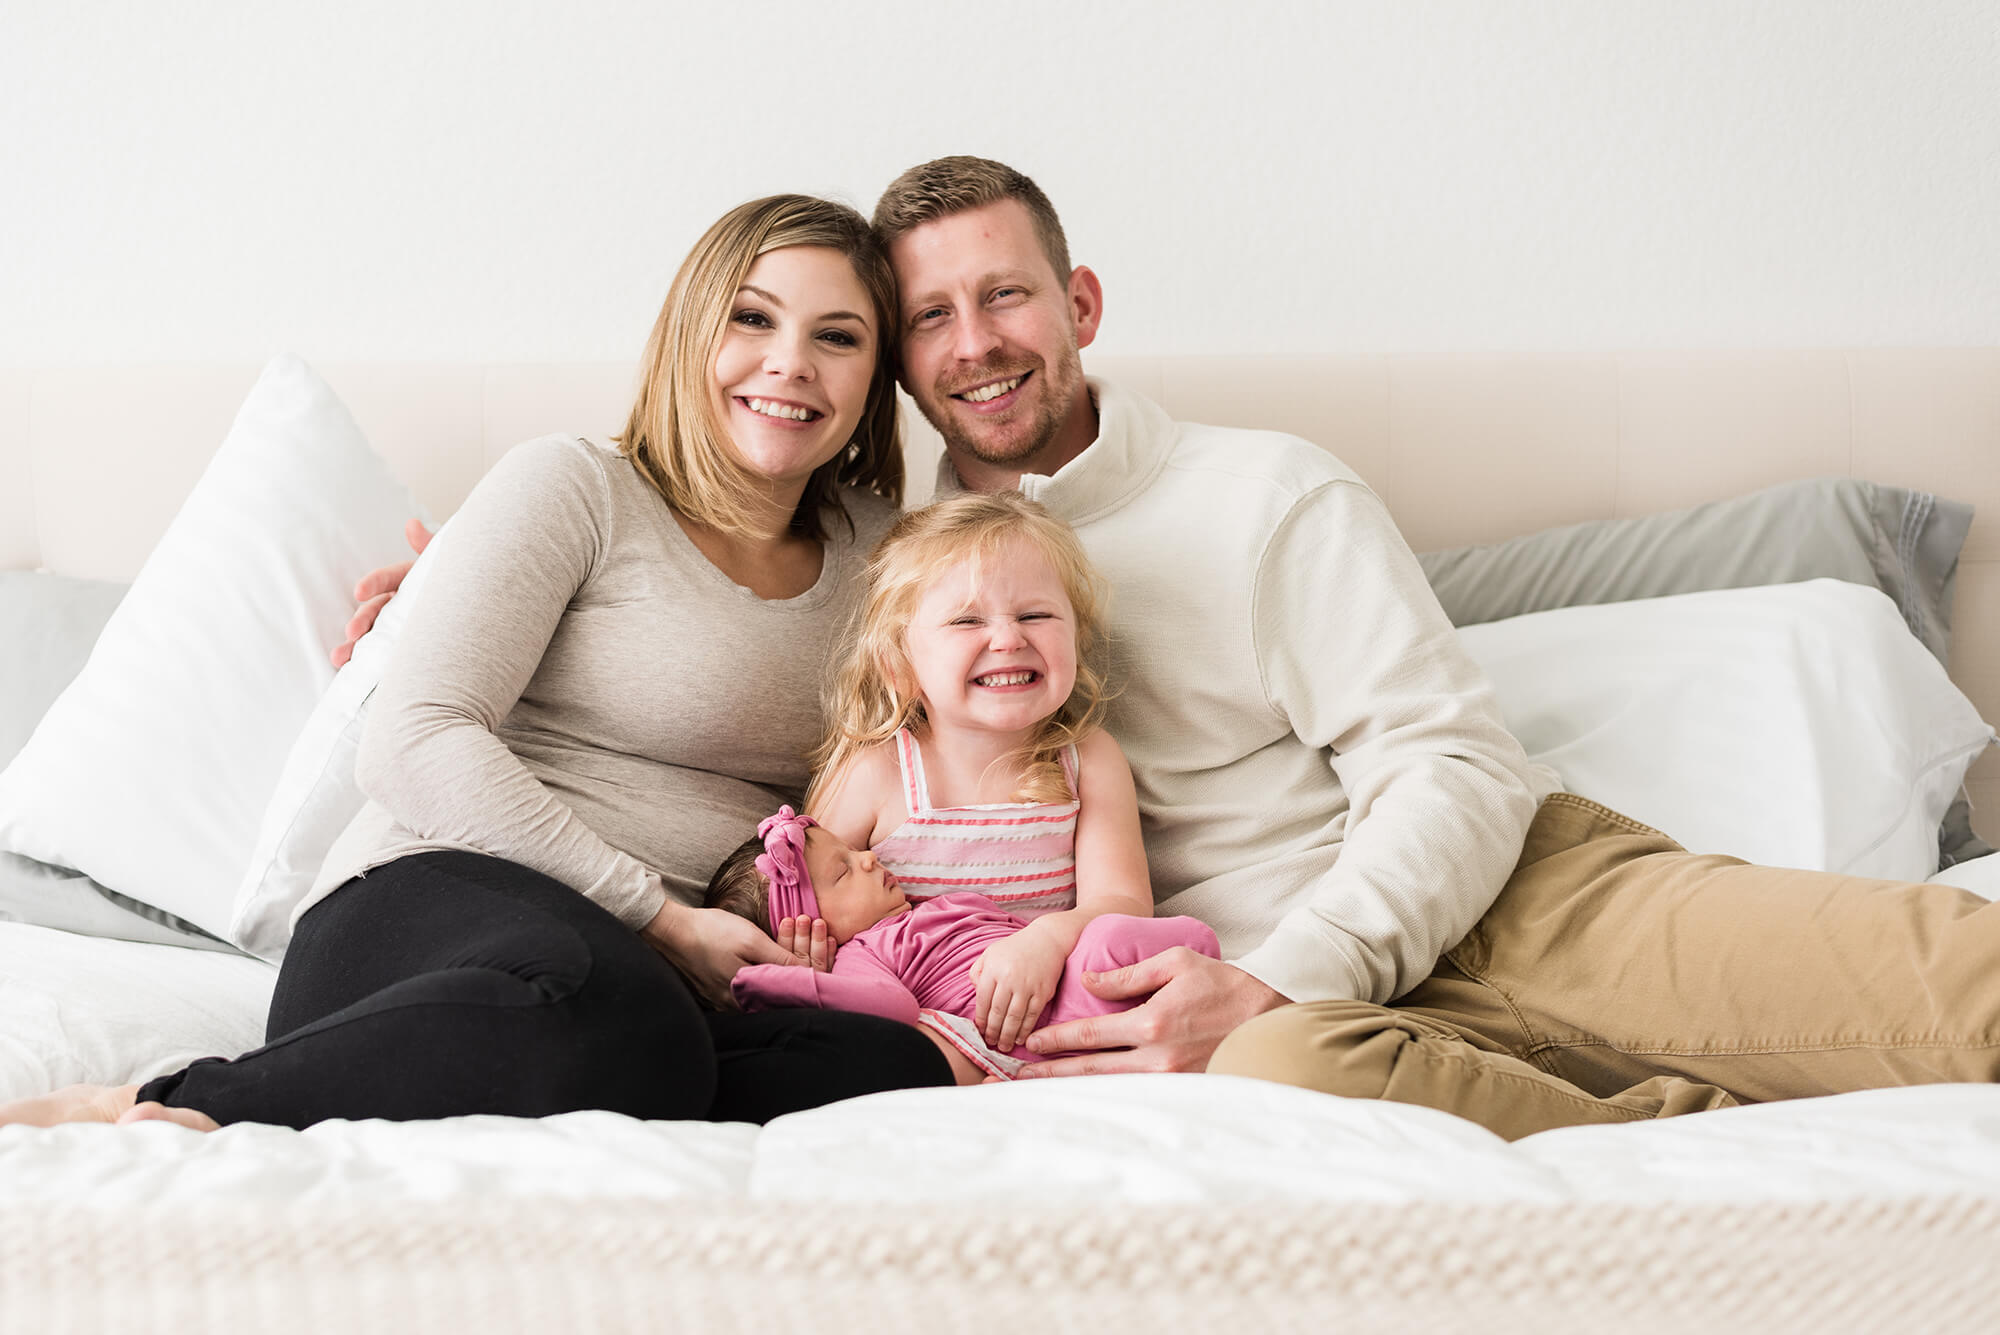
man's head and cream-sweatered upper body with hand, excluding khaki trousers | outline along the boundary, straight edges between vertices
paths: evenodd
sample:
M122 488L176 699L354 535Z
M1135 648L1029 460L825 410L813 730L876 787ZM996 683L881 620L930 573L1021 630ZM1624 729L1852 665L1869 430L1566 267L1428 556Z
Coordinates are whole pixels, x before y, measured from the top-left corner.
M1306 442L1172 424L1086 382L1102 288L1026 176L930 162L874 224L940 490L1020 488L1076 526L1112 588L1108 725L1160 911L1208 921L1232 959L1122 969L1106 989L1154 997L1034 1043L1112 1051L1036 1075L1198 1071L1286 1001L1422 981L1500 889L1536 793L1382 504Z

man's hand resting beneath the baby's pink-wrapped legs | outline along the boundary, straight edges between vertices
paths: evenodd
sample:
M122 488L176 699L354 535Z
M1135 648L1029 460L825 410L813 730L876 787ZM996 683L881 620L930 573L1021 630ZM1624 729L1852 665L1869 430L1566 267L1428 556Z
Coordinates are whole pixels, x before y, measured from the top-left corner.
M1070 1019L1036 1029L1030 1051L1076 1057L1030 1061L1016 1079L1098 1075L1104 1071L1200 1071L1230 1029L1252 1015L1290 1005L1242 969L1176 945L1124 969L1086 973L1084 985L1106 1001L1152 999L1116 1015Z

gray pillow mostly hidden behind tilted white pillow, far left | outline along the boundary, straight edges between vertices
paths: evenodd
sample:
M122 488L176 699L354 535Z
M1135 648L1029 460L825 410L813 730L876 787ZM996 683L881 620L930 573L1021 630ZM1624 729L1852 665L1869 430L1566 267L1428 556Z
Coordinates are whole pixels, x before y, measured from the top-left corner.
M56 695L84 669L124 584L0 572L0 767L28 743ZM234 951L172 913L98 885L82 871L0 853L0 919L122 941Z

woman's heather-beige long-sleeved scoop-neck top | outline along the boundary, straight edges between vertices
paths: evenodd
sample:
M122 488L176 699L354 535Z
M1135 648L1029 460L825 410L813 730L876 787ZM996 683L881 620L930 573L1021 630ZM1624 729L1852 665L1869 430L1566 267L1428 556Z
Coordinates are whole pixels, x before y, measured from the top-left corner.
M406 853L472 849L642 927L806 783L820 685L896 518L850 492L820 580L762 600L614 450L516 446L452 516L370 699L370 801L298 913Z

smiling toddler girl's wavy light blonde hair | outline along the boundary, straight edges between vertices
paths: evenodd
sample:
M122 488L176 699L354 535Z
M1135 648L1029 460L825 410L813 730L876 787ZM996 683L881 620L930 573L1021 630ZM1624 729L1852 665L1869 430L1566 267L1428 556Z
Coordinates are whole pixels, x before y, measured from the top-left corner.
M1074 795L1062 771L1062 747L1102 725L1110 701L1102 666L1104 580L1068 524L1018 492L998 492L954 496L912 510L868 558L862 610L828 689L826 741L812 753L808 809L856 755L892 739L900 727L922 731L928 723L924 697L910 668L916 606L960 562L972 564L976 584L980 566L996 560L1000 548L1016 538L1048 562L1076 612L1076 687L1008 755L1022 771L1016 799L1064 801Z

